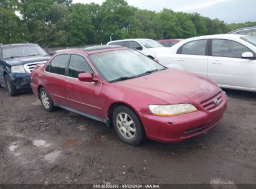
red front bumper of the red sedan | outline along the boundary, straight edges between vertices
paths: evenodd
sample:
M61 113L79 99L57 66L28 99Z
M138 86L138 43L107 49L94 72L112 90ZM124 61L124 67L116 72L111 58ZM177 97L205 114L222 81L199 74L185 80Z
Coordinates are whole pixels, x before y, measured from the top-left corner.
M227 109L227 97L222 92L222 101L211 111L201 105L196 106L194 113L179 116L155 116L139 112L149 139L162 142L180 142L212 129L216 126Z

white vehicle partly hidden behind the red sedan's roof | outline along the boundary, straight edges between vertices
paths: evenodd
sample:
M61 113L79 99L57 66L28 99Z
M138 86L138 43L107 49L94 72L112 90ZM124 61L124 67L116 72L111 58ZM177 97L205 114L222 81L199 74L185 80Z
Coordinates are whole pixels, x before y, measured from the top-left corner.
M123 40L113 40L108 42L107 45L120 45L122 47L128 47L143 53L147 57L154 59L156 53L168 50L167 47L159 44L152 39L123 39Z

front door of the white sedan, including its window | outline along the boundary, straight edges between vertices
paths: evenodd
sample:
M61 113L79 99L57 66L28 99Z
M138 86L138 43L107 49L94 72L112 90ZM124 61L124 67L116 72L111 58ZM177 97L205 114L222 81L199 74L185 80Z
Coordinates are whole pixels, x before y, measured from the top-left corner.
M256 60L241 58L251 50L239 42L212 39L209 78L229 88L255 88Z

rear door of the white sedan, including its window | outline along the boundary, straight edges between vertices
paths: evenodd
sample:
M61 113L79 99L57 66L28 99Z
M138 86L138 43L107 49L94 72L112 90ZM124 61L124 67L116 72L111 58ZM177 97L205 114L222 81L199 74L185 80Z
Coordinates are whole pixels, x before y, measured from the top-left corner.
M181 46L173 56L173 63L183 67L185 71L207 76L208 71L208 41L193 40Z

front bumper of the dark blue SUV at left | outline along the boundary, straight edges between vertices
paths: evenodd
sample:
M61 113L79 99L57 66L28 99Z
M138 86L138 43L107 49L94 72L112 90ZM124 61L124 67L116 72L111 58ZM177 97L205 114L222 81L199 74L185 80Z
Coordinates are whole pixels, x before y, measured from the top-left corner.
M12 73L11 81L16 88L24 89L31 88L31 75L29 73Z

